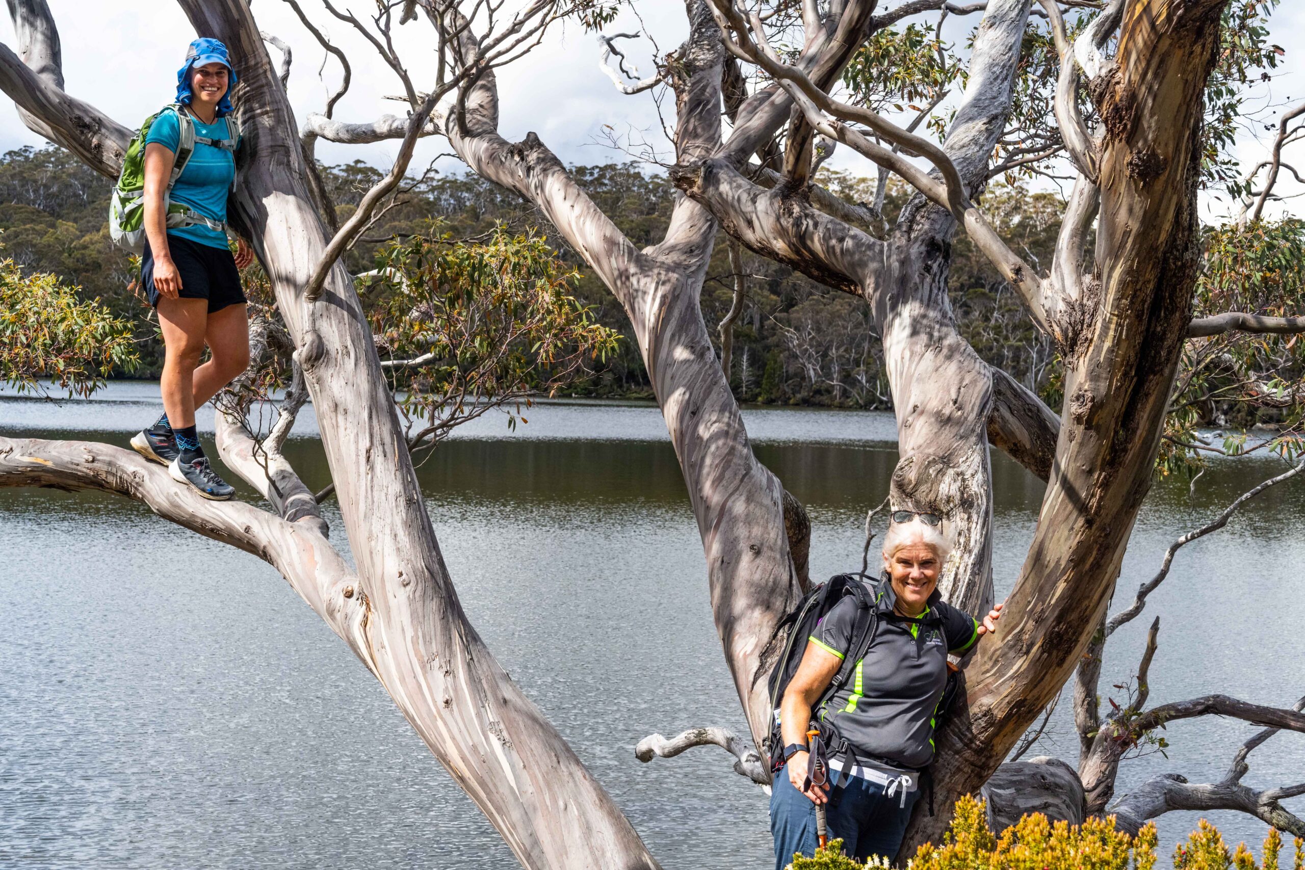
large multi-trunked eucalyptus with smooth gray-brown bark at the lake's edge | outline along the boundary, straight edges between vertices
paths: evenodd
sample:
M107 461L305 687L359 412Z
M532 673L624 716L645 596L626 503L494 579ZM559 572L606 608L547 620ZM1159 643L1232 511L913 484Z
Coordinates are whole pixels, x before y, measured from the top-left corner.
M977 8L921 0L878 10L873 0L784 0L744 9L731 0L688 0L686 38L655 76L626 81L612 70L622 90L666 86L675 97L671 176L684 196L664 239L642 249L538 136L510 142L499 133L496 70L538 44L551 25L574 18L602 27L615 7L531 0L506 17L495 4L406 0L381 4L364 22L331 3L324 3L324 13L286 1L345 70L350 61L328 42L317 16L364 34L408 106L402 119L346 123L333 116L337 94L324 112L299 124L284 91L288 70L278 70L264 48L249 7L179 0L197 33L222 39L240 59L236 102L248 140L232 214L254 240L312 397L356 567L330 545L316 498L277 450L294 406L278 424L282 430L261 445L239 425L239 407L224 415L219 433L228 464L268 496L274 513L205 502L133 454L91 442L0 440L0 484L117 492L265 558L381 681L525 866L656 866L463 614L372 325L338 262L393 197L415 140L441 136L471 171L532 203L624 307L684 472L715 625L752 740L702 728L671 741L650 738L639 757L715 743L737 757L739 772L769 780L761 745L771 715L765 677L784 640L776 625L809 584L805 511L756 459L699 309L723 231L869 307L898 419L900 458L890 498L946 518L958 554L944 578L950 600L979 609L993 597L989 438L1047 480L998 640L967 663L966 697L940 733L936 783L944 807L994 776L1006 787L990 792L994 805L1018 787L1017 801L996 806L1001 820L1032 805L1061 818L1098 809L1095 797L1084 797L1079 772L1064 764L1044 759L998 768L1098 635L1150 487L1180 357L1199 326L1191 322L1191 301L1201 252L1202 99L1228 0L1131 0L1126 7L1114 0L1079 22L1073 43L1061 7L1083 4L1041 3L1054 44L1048 69L1056 82L1047 93L1056 125L1054 134L1027 146L1005 141L1036 115L1021 80L1027 0L983 4L955 115L924 127L941 129L941 143L916 132L924 110L916 124L902 128L873 100L843 102L838 83L853 61L863 72L899 63L891 52L887 59L860 52L910 16ZM59 38L44 0L9 0L9 8L18 52L0 46L0 89L29 127L114 175L130 132L64 91ZM397 26L429 27L438 59L433 82L410 76L390 39ZM791 48L776 50L780 38ZM603 40L607 59L612 39ZM937 106L950 80L906 69L897 81L917 76L921 99ZM346 74L345 87L347 81ZM1024 115L1014 111L1021 106ZM318 138L402 140L394 166L343 223L316 177ZM917 192L891 227L882 226L877 203L848 203L813 183L835 143ZM1040 274L1002 241L977 203L994 172L1058 149L1077 177L1054 261ZM992 260L1064 356L1061 413L985 364L962 338L946 292L958 228ZM1240 329L1255 327L1254 318L1233 320ZM419 365L414 360L407 363ZM277 454L275 464L268 454ZM1218 712L1305 730L1300 711L1221 697L1150 712L1159 721ZM1104 758L1098 766L1111 781L1114 762ZM1291 792L1261 797L1272 809ZM1249 806L1232 797L1220 805ZM1154 806L1139 807L1138 818ZM915 841L936 836L947 817L919 817ZM1289 814L1274 818L1300 824Z

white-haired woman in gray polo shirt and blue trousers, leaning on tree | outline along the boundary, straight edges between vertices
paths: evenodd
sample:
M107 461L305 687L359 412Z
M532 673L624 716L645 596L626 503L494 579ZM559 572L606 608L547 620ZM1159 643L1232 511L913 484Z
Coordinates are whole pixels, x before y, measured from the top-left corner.
M996 631L1002 605L980 623L938 595L951 547L937 514L897 510L883 539L883 574L872 587L878 609L873 640L852 677L825 698L850 655L857 614L852 596L825 616L780 703L784 767L775 775L770 830L775 867L816 852L816 807L848 856L893 858L919 794L919 772L933 760L934 712L947 681L947 653L964 653ZM820 703L817 710L813 706ZM830 759L838 787L806 784L806 730L830 723L848 751Z

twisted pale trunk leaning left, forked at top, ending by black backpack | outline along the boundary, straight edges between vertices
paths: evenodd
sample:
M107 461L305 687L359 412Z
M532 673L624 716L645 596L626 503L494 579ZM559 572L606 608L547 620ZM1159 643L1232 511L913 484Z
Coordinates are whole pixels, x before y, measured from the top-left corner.
M681 162L702 159L719 142L723 73L715 22L701 0L685 5L690 34L673 82ZM463 34L461 44L462 63L475 63L475 42ZM446 121L458 155L482 177L535 203L630 320L698 522L726 663L760 746L770 730L765 676L780 640L775 625L800 595L809 524L753 455L698 307L716 223L701 205L683 200L666 239L638 250L534 133L515 143L499 136L492 70L479 77L465 106L461 120L450 113Z

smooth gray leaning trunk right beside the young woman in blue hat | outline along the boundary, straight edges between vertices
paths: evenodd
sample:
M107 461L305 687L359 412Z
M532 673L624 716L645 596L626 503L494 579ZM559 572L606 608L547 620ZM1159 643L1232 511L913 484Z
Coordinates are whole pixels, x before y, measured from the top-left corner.
M317 584L292 582L301 593L308 590L305 600L350 642L522 865L656 866L621 811L499 667L462 612L350 275L337 263L320 299L303 299L304 282L328 237L311 205L288 100L248 5L240 0L181 0L181 5L198 33L222 39L240 59L235 102L247 138L232 219L253 240L298 348L358 570L343 575L311 547L283 545L275 553L252 548L273 561L273 556L300 560L292 571L282 569L287 577L331 571ZM0 86L39 119L38 132L54 130L56 141L94 168L114 173L115 155L129 133L63 94L57 35L44 1L10 0L10 9L16 30L29 40L25 53L35 72L0 51ZM7 457L10 463L23 459L12 449ZM112 453L104 462L128 467ZM54 473L39 459L29 464L39 466L31 473ZM20 471L27 473L25 468ZM111 477L108 483L125 485ZM9 476L22 479L17 472ZM260 531L254 524L243 528L244 536ZM301 523L295 528L325 543Z

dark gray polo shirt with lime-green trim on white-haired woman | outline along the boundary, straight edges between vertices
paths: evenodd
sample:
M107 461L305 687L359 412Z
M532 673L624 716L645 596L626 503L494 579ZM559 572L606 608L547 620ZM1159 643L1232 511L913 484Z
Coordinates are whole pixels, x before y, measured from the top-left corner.
M882 579L873 591L880 610L874 640L817 715L838 728L857 760L920 770L933 760L934 712L947 682L947 653L968 651L979 639L979 622L937 592L921 622L900 621L893 614L893 584ZM847 596L821 620L810 642L843 659L855 621L856 601Z

